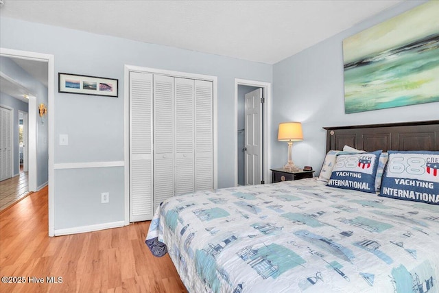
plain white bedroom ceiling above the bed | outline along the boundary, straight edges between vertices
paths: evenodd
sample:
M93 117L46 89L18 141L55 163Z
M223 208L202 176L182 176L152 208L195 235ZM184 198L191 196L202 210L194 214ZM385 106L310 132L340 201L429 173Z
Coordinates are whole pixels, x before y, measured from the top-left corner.
M0 16L274 64L401 1L5 0Z

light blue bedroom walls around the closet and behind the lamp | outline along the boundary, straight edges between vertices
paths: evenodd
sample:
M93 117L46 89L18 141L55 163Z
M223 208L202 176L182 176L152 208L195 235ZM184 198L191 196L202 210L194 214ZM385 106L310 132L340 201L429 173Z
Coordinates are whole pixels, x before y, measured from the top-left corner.
M274 66L7 18L1 18L0 43L53 54L56 74L119 79L118 98L55 91L54 163L123 161L124 65L217 76L218 187L230 187L235 78L273 81L271 167L285 164L287 156L287 145L276 140L281 121L302 121L305 140L294 144L293 159L319 171L324 126L437 119L438 103L344 114L342 40L419 3L403 2ZM69 134L68 146L58 145L59 134ZM54 182L56 229L123 220L123 167L56 170ZM99 204L104 191L110 192L109 204Z

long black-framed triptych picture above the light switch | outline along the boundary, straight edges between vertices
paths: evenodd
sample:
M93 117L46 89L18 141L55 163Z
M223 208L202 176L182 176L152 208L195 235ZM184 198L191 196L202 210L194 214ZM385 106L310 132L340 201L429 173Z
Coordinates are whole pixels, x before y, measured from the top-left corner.
M96 76L58 73L59 93L79 93L81 95L104 95L118 97L119 80Z

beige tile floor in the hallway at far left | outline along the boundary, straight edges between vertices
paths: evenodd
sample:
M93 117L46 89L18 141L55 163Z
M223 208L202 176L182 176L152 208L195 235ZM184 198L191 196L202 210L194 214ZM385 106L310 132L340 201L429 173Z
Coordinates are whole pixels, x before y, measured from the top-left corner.
M27 195L27 179L27 172L20 172L18 176L0 182L0 211Z

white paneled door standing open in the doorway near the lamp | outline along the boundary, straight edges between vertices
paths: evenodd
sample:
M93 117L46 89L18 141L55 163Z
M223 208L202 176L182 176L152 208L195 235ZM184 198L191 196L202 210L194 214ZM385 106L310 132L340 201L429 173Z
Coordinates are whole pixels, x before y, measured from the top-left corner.
M262 89L245 95L245 145L244 145L244 178L245 185L261 183L261 113Z

